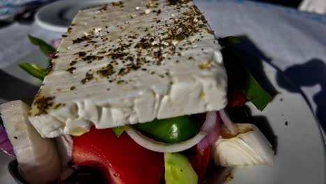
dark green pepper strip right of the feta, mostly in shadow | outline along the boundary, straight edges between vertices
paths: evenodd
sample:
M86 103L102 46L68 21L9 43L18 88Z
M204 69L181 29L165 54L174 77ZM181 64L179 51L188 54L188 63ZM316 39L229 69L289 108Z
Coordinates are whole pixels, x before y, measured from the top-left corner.
M234 36L228 36L219 38L219 43L224 47L222 54L228 77L231 77L238 84L240 91L242 91L257 109L263 111L268 103L272 101L272 96L258 84L248 68L240 61L240 57L237 54L238 51L233 47L228 47L240 43L240 39Z

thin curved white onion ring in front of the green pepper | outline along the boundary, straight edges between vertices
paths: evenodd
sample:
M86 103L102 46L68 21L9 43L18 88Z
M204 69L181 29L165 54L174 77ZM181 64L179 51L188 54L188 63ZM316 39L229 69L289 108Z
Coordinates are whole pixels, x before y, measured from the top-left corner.
M147 148L151 151L157 151L162 153L172 153L172 152L179 152L185 151L186 149L192 148L192 146L196 145L207 135L207 132L200 131L195 137L188 139L187 141L182 141L174 144L166 144L160 141L155 141L148 137L145 137L141 134L138 130L133 128L132 126L128 126L125 130L127 134L134 139L137 144Z

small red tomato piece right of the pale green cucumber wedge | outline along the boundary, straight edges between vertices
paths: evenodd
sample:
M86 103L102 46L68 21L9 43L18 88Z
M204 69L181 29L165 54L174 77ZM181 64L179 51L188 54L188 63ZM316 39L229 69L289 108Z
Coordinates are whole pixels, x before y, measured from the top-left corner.
M194 150L196 150L196 148L194 148ZM190 164L192 164L194 171L196 171L198 183L202 183L206 174L208 162L210 161L210 146L202 151L196 151L194 155L188 156L188 160Z

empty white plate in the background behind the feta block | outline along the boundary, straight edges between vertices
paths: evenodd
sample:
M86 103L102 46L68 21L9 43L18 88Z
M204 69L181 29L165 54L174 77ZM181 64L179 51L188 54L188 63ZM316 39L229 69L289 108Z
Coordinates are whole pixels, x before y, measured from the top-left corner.
M78 10L101 6L112 0L61 0L38 10L36 23L49 31L65 32Z

